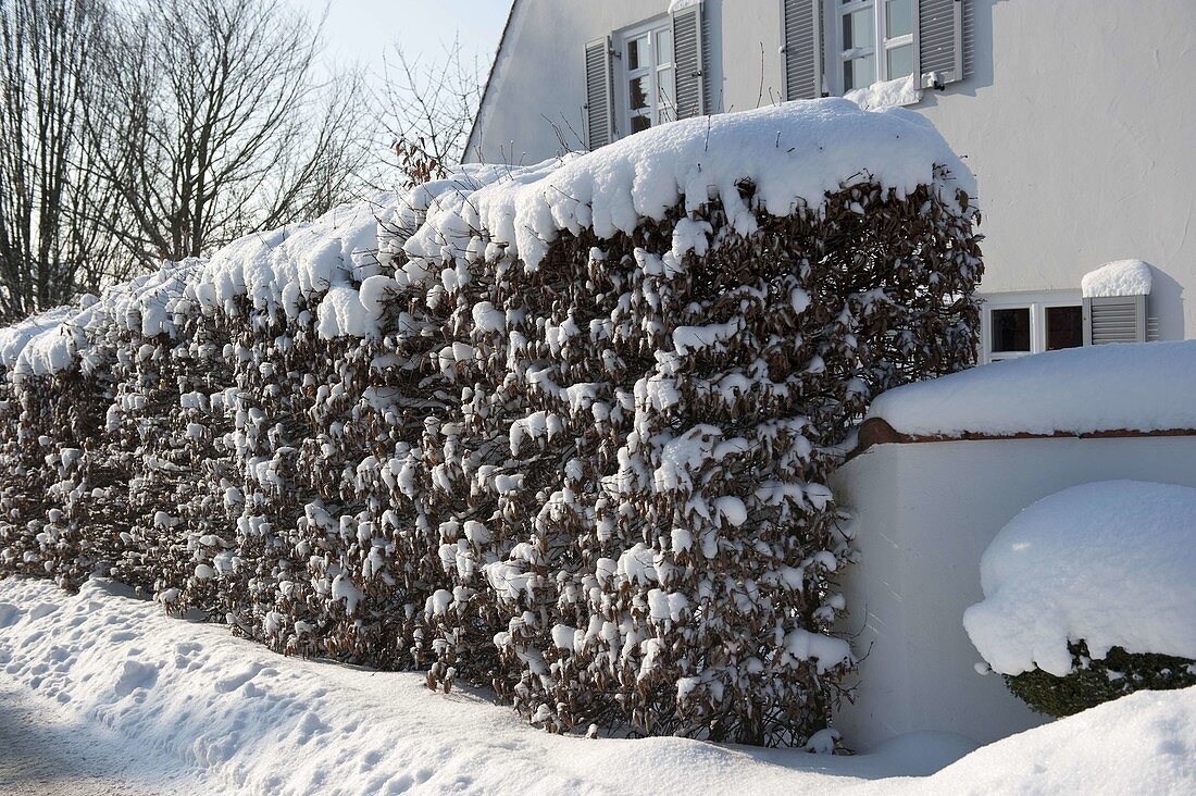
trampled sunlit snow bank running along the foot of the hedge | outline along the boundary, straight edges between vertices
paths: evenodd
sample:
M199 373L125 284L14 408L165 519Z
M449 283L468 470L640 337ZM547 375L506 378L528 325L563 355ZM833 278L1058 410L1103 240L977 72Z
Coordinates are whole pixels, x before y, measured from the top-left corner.
M550 735L483 694L434 694L422 674L282 657L118 591L0 582L0 694L26 694L78 736L103 730L133 770L191 774L189 792L825 792L969 751L926 734L850 758Z

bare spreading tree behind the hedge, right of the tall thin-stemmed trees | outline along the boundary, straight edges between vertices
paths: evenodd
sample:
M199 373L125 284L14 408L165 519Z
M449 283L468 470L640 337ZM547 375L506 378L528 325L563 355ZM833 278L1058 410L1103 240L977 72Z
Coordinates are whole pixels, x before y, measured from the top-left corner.
M127 207L111 235L147 261L199 256L348 199L361 81L319 83L317 53L279 0L166 0L114 26L87 115Z

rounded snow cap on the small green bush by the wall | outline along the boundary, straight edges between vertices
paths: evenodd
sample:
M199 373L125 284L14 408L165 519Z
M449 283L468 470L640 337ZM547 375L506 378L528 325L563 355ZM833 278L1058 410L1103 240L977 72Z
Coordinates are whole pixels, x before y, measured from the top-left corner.
M1072 672L1068 642L1196 658L1196 490L1100 481L1043 498L981 559L964 627L994 670Z

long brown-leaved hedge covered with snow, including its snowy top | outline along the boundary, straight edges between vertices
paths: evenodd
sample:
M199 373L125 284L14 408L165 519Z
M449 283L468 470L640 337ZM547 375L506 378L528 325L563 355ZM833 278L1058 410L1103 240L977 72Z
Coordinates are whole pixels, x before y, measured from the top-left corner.
M873 395L971 363L970 180L916 115L789 103L6 330L0 564L554 730L805 743L852 666L826 478Z

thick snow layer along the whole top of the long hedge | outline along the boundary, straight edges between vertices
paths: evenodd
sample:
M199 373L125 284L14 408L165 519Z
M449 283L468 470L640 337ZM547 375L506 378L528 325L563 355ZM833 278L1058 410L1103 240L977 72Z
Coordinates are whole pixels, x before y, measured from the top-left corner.
M936 169L948 178L936 177ZM371 296L392 286L391 278L404 288L426 286L429 277L439 280L445 257L458 265L478 255L492 262L518 257L535 269L562 231L592 229L600 238L630 235L645 219L663 220L678 202L687 212L719 202L732 229L750 235L757 229L756 212L824 212L828 194L853 184L892 189L897 198L934 186L939 199L957 212L963 212L960 195L976 195L971 172L934 127L903 109L871 113L829 98L682 120L585 157L521 168L462 166L448 180L379 194L306 224L248 235L202 266L188 263L181 271L167 265L158 274L109 290L100 304L111 306L102 316L59 309L0 332L0 363L10 373L57 372L83 356L79 332L89 324L98 328L116 315L160 324L196 306L227 310L242 296L257 309L294 317L299 297L313 300L331 293L317 318L321 335L372 336L378 334L380 306ZM745 186L751 186L750 199ZM471 251L475 231L482 229L488 233L486 250ZM665 268L676 267L707 239L701 223L676 225L663 255ZM396 254L407 260L397 273L389 267ZM362 291L362 282L374 275L383 279L371 282L373 293ZM171 284L176 288L166 290ZM75 342L54 340L60 335ZM14 367L24 346L35 340L26 365Z

